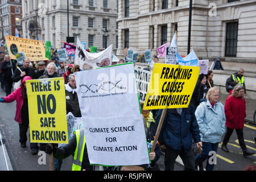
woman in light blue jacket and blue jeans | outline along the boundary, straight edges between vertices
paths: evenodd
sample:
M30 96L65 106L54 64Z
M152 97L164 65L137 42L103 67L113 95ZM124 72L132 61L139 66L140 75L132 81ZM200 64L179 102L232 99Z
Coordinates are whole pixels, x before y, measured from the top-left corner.
M199 163L208 159L205 168L207 171L213 171L214 159L209 159L213 156L212 151L217 154L218 143L225 133L225 111L224 106L218 101L218 97L219 90L215 87L210 88L206 96L207 101L201 102L195 112L203 142L202 153L195 158L195 167L197 168Z

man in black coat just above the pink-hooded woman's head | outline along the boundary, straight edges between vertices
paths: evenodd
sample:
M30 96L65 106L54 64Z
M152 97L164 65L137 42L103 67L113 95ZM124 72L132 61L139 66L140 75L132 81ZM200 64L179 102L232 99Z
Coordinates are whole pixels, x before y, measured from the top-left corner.
M24 76L30 76L32 79L36 79L35 71L33 68L30 68L30 59L27 57L23 60L23 65L19 69L15 69L14 75L13 75L13 81L18 82L19 80L22 80Z

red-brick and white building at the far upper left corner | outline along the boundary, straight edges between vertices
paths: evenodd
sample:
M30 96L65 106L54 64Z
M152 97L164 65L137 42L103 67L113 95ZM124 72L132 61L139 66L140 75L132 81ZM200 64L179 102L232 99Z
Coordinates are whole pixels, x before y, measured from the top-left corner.
M22 0L1 0L0 11L0 38L15 36L15 28L22 36Z

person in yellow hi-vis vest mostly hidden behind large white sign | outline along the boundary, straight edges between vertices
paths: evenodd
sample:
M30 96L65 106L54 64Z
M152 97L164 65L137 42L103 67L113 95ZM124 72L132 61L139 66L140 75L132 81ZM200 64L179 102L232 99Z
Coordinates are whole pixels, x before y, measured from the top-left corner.
M94 166L90 166L88 152L85 143L84 130L76 130L73 137L68 140L68 144L63 147L53 148L47 144L46 154L52 154L57 159L65 159L75 154L73 158L72 171L93 171Z

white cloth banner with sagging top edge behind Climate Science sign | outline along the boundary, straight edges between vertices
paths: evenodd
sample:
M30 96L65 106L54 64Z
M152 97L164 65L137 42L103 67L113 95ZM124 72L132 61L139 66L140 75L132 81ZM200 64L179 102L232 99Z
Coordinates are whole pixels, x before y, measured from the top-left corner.
M82 47L79 38L77 38L75 64L79 65L81 69L96 69L112 65L113 45L97 53L87 52Z

